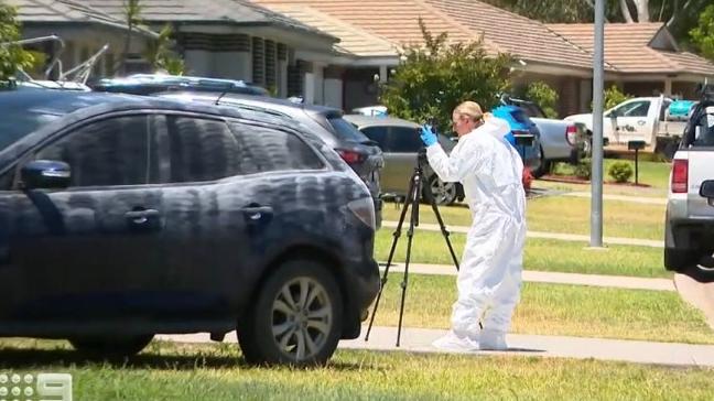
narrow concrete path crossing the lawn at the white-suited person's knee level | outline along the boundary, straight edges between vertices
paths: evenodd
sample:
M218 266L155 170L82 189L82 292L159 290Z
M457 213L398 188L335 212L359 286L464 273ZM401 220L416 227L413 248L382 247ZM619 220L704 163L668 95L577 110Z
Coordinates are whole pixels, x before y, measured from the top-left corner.
M383 271L386 264L386 261L380 262L379 269ZM404 263L392 263L389 271L393 273L402 273L404 271ZM409 272L413 274L456 275L456 268L453 264L410 263ZM526 270L523 271L523 281L536 283L607 286L627 290L677 291L671 279L645 279L623 275L556 273Z

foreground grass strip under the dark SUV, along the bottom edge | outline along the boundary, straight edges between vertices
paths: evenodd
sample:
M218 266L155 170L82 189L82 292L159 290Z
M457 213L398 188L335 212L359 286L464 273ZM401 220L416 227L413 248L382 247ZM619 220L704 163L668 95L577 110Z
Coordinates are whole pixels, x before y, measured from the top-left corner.
M35 346L44 350L0 350L0 370L72 373L76 400L708 400L714 393L707 368L350 350L324 368L255 368L242 365L236 346L165 343L116 366L53 349L58 343Z

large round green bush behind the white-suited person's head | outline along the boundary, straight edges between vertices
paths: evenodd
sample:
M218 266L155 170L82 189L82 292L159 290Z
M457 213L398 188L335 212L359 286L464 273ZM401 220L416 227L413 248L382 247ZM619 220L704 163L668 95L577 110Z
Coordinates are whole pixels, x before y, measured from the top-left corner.
M453 109L464 100L484 108L497 102L508 86L510 56L488 56L480 41L448 43L446 33L433 36L419 20L423 46L407 47L380 100L391 115L422 122L433 117L451 127Z

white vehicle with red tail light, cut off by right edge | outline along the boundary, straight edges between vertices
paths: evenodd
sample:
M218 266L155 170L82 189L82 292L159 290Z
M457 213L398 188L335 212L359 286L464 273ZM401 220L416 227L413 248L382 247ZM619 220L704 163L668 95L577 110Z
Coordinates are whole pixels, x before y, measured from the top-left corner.
M664 265L714 274L714 86L703 89L674 154L667 203Z

